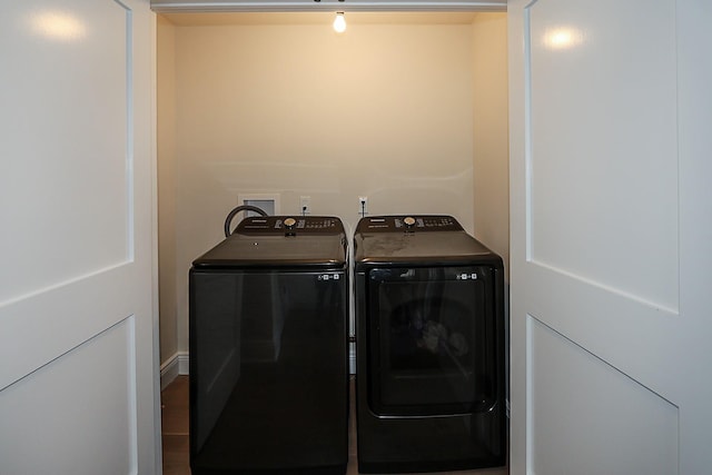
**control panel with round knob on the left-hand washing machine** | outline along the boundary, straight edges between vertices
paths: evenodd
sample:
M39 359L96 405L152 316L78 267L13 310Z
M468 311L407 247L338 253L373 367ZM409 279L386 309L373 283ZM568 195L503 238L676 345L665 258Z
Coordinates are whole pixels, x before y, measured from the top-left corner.
M235 232L244 235L279 235L285 232L344 232L342 220L333 216L251 216L237 225Z

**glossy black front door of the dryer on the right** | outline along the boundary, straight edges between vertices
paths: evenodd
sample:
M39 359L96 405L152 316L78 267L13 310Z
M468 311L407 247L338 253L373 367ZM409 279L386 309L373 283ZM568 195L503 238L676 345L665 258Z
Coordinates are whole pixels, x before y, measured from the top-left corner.
M493 276L485 266L368 273L368 385L375 414L467 414L495 403Z

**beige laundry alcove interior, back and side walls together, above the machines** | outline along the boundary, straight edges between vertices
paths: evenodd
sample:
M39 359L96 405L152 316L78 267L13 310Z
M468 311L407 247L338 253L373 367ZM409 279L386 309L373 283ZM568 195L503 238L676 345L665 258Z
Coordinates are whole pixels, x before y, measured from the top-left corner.
M445 212L508 260L504 2L345 2L340 36L336 2L240 3L261 11L152 2L164 384L187 373L190 263L239 195L278 194L281 214L309 196L347 235L359 196L370 214Z

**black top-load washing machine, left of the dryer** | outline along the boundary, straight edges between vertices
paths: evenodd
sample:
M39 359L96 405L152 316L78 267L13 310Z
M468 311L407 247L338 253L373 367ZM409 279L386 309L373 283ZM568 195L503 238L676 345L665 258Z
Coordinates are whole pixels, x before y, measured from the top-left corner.
M344 474L347 240L335 217L248 217L190 269L190 467Z

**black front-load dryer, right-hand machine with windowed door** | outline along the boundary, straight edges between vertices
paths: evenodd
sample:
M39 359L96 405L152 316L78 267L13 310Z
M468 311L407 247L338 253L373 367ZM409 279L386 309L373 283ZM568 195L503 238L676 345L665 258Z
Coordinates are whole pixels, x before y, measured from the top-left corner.
M451 216L354 236L358 471L506 463L502 258Z

